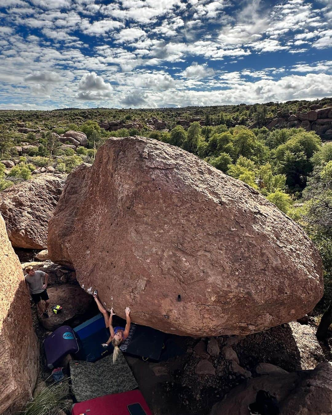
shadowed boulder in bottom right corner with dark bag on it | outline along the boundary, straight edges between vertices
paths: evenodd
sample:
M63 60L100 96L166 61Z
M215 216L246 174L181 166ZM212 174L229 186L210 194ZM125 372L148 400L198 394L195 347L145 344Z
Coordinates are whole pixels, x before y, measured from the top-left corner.
M312 370L251 378L216 403L210 415L247 415L248 405L255 402L260 389L277 398L281 415L330 415L332 362L325 361Z

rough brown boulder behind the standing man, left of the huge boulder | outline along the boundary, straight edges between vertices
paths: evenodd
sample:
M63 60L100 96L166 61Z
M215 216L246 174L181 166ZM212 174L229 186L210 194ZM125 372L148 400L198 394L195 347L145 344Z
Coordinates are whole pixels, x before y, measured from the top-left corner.
M46 248L48 221L63 184L64 178L43 175L0 193L0 212L13 247Z

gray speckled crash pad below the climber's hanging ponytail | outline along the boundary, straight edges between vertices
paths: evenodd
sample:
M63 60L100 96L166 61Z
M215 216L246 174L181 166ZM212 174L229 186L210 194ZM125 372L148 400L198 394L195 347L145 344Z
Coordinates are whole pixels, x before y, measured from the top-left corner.
M70 361L73 394L78 402L138 388L122 352L115 364L110 354L96 362Z

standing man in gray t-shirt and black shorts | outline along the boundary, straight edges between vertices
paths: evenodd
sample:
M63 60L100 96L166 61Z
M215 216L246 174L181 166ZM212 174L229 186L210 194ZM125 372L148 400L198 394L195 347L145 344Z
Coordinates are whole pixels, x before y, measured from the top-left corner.
M25 283L31 294L32 300L37 304L39 310L43 313L42 315L46 318L49 317L49 296L46 291L47 281L49 280L49 274L43 271L35 271L33 266L27 266L25 269L27 272L24 275ZM42 277L45 277L45 284L43 283ZM45 307L41 304L41 300L45 301Z

